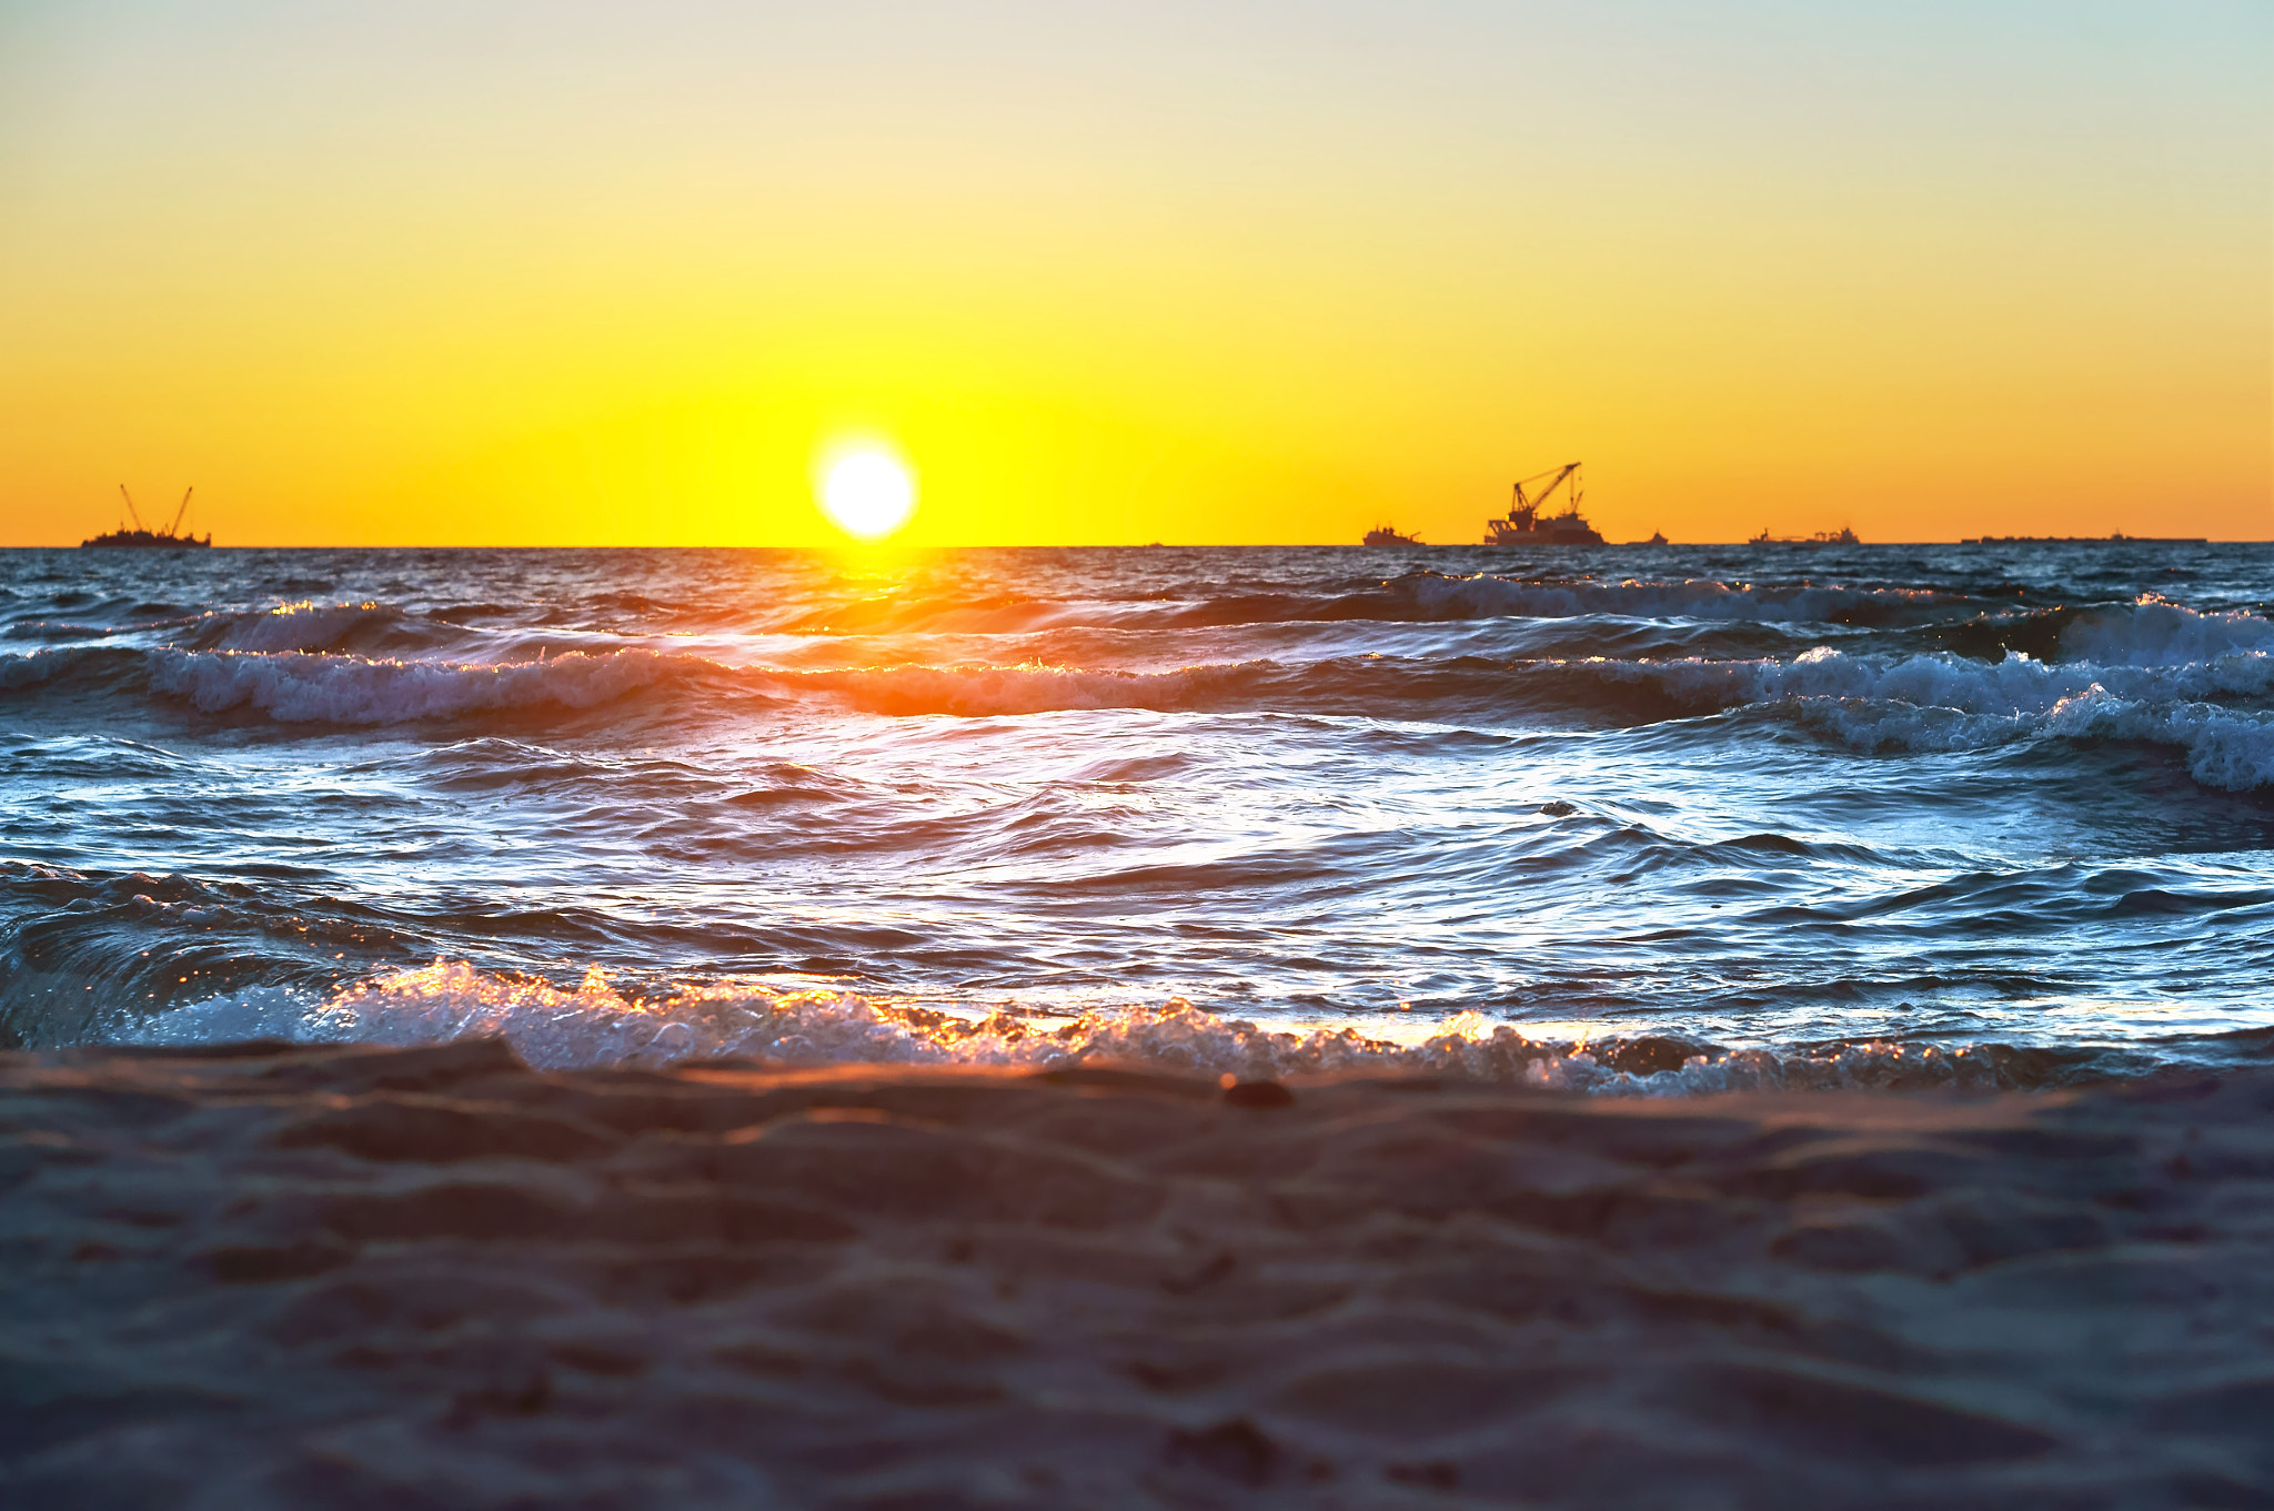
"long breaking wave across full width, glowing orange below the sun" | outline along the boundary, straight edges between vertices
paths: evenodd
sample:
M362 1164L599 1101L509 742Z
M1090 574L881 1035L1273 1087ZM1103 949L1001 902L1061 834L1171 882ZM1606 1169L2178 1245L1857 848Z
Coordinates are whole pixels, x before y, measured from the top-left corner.
M1499 718L1592 709L1612 723L1783 709L1860 750L1981 750L2033 736L2176 745L2210 786L2274 784L2269 713L2219 700L2274 698L2274 652L2210 661L2047 663L2019 652L1890 657L1815 648L1794 659L1487 657L1219 661L1171 670L1078 666L864 666L785 670L655 650L568 652L539 661L423 661L316 652L161 648L43 650L0 657L0 688L116 686L146 657L155 693L207 713L252 709L280 723L393 725L528 709L594 709L646 691L764 702L828 698L882 716L1005 718L1078 709L1233 711L1253 707L1383 718L1460 707Z

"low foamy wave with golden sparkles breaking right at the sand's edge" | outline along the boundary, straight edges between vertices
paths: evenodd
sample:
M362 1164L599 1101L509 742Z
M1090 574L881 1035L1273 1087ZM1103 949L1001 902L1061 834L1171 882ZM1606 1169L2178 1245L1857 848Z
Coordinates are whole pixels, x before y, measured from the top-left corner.
M1182 1000L1085 1013L948 1013L846 991L762 982L680 986L630 997L596 966L575 988L500 977L437 959L327 997L255 988L171 1011L111 1020L100 1043L425 1045L498 1036L539 1070L766 1061L782 1066L919 1063L1064 1068L1119 1063L1228 1079L1303 1075L1442 1075L1553 1086L1590 1095L1706 1095L1851 1086L2044 1086L2085 1072L2085 1054L2010 1045L1840 1041L1787 1052L1721 1050L1667 1036L1526 1038L1508 1022L1460 1013L1399 1043L1355 1029L1276 1032Z

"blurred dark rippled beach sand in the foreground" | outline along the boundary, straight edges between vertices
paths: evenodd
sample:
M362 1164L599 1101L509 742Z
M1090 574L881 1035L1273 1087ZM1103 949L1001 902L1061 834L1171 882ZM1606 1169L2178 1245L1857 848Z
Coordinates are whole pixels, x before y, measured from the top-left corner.
M2274 1077L0 1057L0 1502L2274 1504Z

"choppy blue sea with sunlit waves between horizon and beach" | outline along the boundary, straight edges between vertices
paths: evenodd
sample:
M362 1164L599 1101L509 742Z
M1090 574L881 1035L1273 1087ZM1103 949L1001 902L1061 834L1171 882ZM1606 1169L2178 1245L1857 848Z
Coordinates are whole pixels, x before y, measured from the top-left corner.
M2274 548L0 552L0 1047L2274 1057Z

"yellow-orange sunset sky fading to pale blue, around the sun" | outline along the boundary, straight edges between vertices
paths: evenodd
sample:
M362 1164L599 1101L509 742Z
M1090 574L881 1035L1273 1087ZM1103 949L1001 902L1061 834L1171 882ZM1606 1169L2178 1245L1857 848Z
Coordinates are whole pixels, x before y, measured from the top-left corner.
M0 543L2274 536L2265 0L0 0Z

